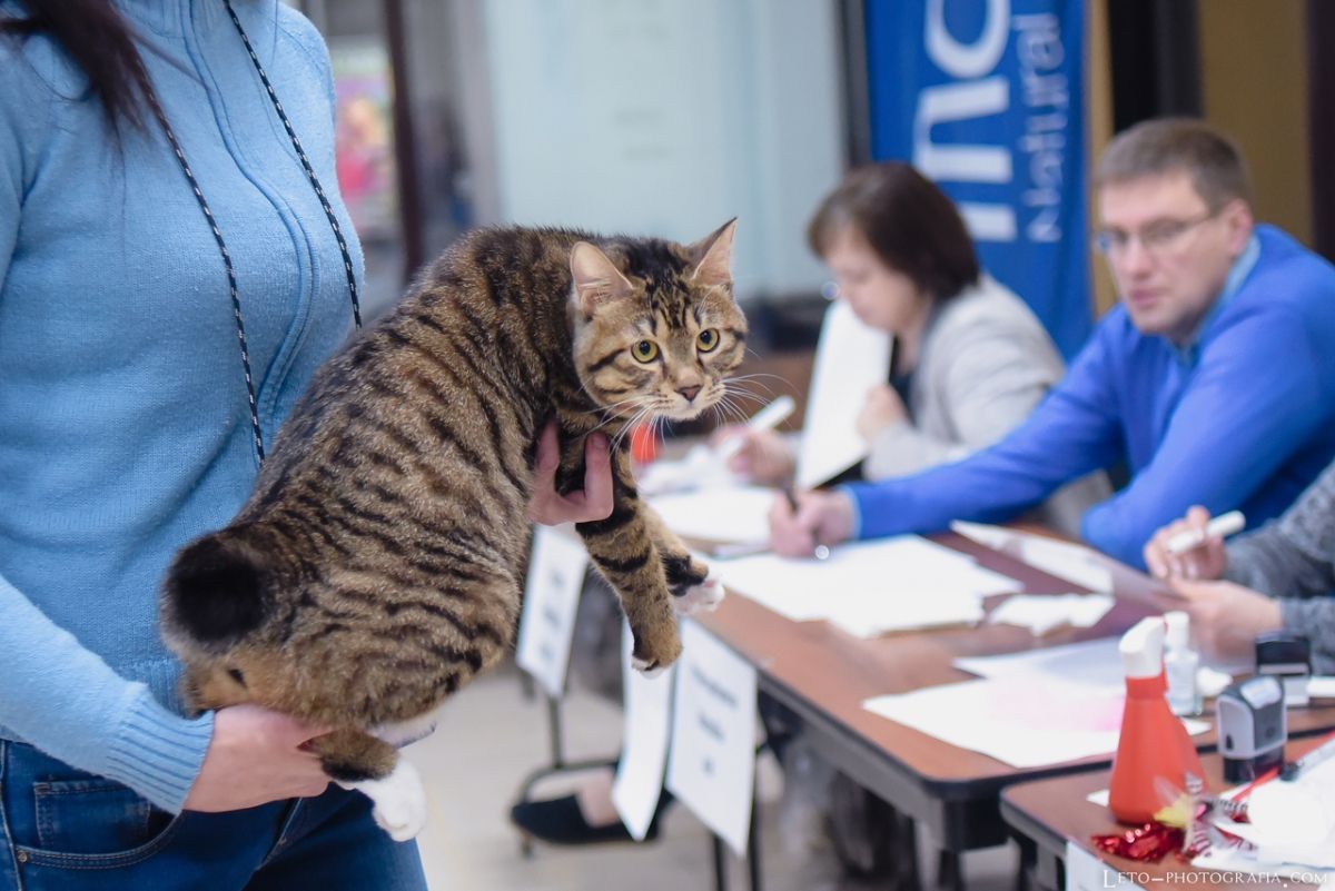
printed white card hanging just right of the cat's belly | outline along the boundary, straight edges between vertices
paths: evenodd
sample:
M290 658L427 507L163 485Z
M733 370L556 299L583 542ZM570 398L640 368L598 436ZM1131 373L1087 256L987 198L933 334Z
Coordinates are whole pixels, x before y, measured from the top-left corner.
M587 566L583 542L555 528L537 528L514 658L554 699L565 694L570 638Z

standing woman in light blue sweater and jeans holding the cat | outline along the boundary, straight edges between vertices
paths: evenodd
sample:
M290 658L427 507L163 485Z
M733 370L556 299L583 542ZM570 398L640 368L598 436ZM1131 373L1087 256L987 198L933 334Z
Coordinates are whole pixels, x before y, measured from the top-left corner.
M335 187L328 55L278 0L0 5L0 888L425 887L322 728L183 716L156 628L360 320Z

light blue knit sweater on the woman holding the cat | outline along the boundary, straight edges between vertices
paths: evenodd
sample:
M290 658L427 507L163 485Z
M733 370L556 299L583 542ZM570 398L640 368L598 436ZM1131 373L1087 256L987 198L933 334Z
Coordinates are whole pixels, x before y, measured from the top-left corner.
M323 41L234 4L336 200ZM338 244L222 0L117 5L227 239L272 441L350 329ZM158 586L255 472L222 257L164 136L117 149L55 44L0 37L0 736L180 808L212 720L174 706Z

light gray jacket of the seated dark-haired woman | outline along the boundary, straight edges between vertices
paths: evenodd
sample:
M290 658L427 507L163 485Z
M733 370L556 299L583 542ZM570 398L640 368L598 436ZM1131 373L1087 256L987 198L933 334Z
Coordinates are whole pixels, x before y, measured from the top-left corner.
M905 476L991 446L1019 427L1064 373L1029 307L984 275L928 321L909 389L913 421L881 431L862 464L865 476ZM1079 536L1080 518L1111 494L1107 478L1091 474L1053 492L1035 519Z

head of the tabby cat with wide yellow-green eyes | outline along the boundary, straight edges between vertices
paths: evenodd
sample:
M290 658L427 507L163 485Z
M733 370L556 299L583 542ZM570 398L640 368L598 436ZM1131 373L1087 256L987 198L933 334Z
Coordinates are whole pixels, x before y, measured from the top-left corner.
M746 337L729 273L733 227L689 247L574 247L575 368L595 403L627 419L673 420L720 403Z

